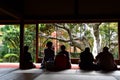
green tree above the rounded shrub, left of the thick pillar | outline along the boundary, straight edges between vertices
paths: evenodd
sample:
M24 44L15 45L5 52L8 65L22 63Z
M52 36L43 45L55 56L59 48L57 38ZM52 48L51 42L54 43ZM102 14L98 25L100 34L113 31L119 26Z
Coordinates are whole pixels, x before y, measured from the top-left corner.
M19 25L5 25L1 29L3 53L14 53L19 55L20 32Z

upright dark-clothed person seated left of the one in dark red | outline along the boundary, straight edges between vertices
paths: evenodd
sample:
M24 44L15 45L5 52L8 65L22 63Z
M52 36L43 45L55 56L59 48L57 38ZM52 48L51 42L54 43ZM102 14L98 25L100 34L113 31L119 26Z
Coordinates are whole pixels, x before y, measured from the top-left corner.
M41 63L41 69L50 67L47 65L48 62L54 62L55 52L53 50L53 43L51 41L47 42L46 48L44 49L44 58Z

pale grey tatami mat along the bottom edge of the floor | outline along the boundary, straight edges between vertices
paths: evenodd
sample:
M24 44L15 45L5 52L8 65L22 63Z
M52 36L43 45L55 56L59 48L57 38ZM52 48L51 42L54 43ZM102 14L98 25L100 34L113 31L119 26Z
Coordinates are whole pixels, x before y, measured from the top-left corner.
M70 75L70 74L42 74L35 80L116 80L113 76L99 75Z

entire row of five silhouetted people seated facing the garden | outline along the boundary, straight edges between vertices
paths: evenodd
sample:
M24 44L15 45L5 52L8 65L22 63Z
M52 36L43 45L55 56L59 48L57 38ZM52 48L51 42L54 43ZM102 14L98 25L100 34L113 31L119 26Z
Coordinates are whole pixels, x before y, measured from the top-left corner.
M64 70L71 68L71 59L69 52L66 51L64 45L60 46L60 51L55 55L54 48L52 47L53 43L51 41L47 42L46 48L44 49L44 57L41 63L41 69L48 70ZM32 58L28 52L28 46L24 47L26 53L25 58L27 63L30 65L30 68L35 68L35 65L32 63ZM104 47L103 51L98 53L98 55L93 57L93 54L90 52L90 48L86 47L83 52L80 53L79 67L83 70L116 70L117 64L114 61L112 53L109 52L108 47Z

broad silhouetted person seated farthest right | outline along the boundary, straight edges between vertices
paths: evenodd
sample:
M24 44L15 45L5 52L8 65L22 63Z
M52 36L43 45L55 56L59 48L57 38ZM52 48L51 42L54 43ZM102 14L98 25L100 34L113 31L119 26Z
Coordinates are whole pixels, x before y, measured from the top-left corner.
M114 61L112 53L108 47L104 47L103 51L96 56L96 64L101 70L116 70L117 65Z

